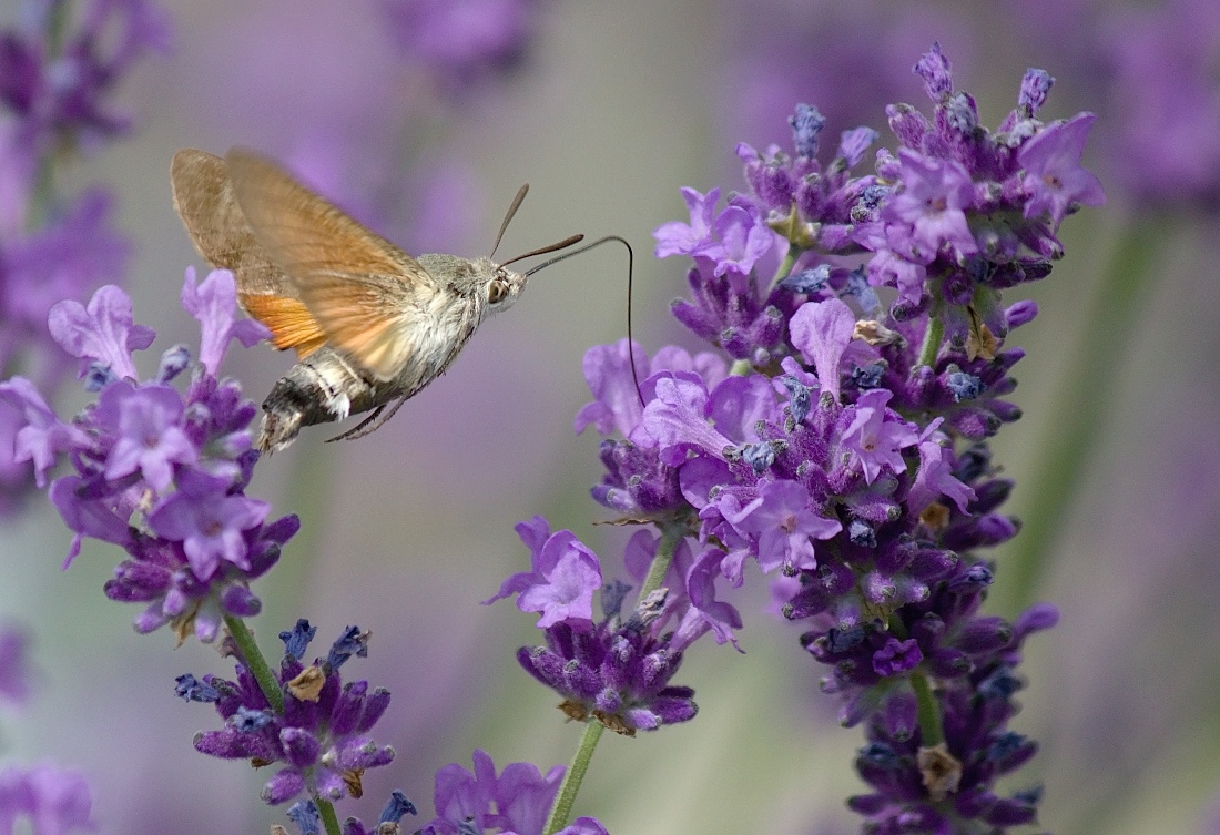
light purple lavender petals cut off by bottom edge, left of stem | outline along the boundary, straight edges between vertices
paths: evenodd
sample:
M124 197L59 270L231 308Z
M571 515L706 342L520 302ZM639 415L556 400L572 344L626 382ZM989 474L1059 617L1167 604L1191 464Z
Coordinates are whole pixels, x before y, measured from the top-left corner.
M511 833L542 835L547 814L564 776L555 766L545 776L531 763L510 763L499 776L486 751L475 750L475 770L450 763L437 772L437 817L420 835ZM608 835L593 818L577 818L556 835Z

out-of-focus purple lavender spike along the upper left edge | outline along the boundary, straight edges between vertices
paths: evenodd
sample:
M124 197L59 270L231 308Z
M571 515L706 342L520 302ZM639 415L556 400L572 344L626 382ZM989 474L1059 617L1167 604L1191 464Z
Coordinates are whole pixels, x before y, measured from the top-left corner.
M54 396L71 367L46 329L51 306L117 280L131 250L110 195L56 194L55 166L127 132L107 99L168 28L146 0L93 0L72 32L66 0L22 5L21 27L0 32L0 377L21 373ZM20 424L0 403L0 514L34 489L32 467L11 453Z

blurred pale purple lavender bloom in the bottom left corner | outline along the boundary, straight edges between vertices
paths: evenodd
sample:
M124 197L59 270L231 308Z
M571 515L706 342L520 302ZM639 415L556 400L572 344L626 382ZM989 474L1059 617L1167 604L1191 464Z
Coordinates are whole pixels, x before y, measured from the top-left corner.
M77 772L44 763L28 769L0 770L0 831L12 833L28 819L35 835L92 831L93 794Z

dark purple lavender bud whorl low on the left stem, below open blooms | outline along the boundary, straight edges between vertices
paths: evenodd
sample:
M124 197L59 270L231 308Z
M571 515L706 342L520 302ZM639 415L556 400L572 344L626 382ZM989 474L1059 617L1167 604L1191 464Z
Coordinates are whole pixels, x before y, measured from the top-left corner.
M195 736L201 753L226 759L249 759L254 766L283 763L267 781L262 800L284 803L301 792L327 801L364 794L365 769L387 766L394 750L381 747L368 731L389 707L389 691L370 691L367 681L343 684L339 668L353 655L368 653L368 633L349 627L325 659L305 666L301 658L317 629L298 620L281 633L284 657L276 673L282 708L273 706L238 655L237 680L214 675L178 677L177 694L194 702L211 702L224 719L223 730Z

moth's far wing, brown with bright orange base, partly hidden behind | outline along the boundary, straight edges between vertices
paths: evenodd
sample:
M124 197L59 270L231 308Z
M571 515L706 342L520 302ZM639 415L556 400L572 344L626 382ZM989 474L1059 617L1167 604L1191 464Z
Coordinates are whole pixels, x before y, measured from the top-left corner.
M296 286L267 257L250 227L224 160L187 147L170 163L173 208L204 258L237 277L238 300L271 330L277 349L304 358L326 344L322 327L300 300Z

